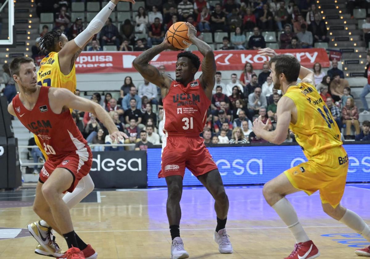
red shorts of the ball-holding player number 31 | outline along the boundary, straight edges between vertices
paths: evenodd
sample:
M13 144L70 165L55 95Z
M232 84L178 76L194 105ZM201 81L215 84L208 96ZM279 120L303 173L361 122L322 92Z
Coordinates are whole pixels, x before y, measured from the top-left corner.
M197 137L169 136L163 139L162 170L158 178L181 175L184 178L185 167L194 176L206 174L217 165L204 145L204 139Z

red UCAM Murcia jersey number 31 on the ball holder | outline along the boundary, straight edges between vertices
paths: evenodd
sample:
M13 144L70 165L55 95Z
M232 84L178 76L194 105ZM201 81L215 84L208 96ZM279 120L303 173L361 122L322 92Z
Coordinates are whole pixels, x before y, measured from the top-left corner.
M163 132L168 135L199 136L207 120L211 100L199 79L184 86L172 81L163 99Z

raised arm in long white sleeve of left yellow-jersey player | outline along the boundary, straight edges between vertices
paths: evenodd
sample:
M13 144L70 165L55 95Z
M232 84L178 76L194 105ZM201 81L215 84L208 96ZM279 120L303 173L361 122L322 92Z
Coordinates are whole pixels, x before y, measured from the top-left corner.
M63 74L69 74L71 64L74 63L75 58L78 57L90 39L102 29L119 1L135 3L135 0L111 0L100 10L94 19L91 20L85 30L78 34L73 40L68 41L59 51L59 66Z

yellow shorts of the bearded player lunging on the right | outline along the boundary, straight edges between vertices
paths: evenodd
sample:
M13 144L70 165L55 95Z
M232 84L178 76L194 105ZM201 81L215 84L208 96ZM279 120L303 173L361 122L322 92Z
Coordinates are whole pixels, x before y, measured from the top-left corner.
M334 208L346 185L348 155L343 147L331 148L284 172L290 183L308 195L320 191L322 203Z

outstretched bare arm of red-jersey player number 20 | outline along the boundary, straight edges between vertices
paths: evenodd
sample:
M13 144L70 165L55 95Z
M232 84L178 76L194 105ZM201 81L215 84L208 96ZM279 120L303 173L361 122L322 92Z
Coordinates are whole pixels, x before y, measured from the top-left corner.
M128 138L125 133L118 131L108 112L96 102L74 95L71 91L64 88L50 88L49 100L53 104L52 110L54 112L61 111L63 107L91 112L108 129L113 140L119 141L122 137Z

